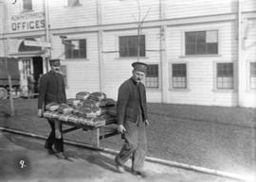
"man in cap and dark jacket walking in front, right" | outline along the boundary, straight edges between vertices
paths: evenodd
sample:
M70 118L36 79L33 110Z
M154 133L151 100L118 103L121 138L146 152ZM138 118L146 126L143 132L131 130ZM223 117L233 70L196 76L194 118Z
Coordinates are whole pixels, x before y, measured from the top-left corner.
M134 62L133 76L119 87L117 103L118 130L125 141L115 158L119 173L124 173L124 163L132 157L132 174L146 177L143 164L147 151L145 126L148 125L146 90L141 80L145 77L148 65Z

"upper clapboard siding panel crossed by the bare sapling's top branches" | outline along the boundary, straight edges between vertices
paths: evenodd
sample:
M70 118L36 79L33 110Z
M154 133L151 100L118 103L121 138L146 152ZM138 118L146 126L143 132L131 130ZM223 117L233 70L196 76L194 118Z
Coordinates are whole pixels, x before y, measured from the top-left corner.
M140 0L141 19L145 21L159 19L158 0ZM138 20L137 0L102 0L102 24L123 24Z

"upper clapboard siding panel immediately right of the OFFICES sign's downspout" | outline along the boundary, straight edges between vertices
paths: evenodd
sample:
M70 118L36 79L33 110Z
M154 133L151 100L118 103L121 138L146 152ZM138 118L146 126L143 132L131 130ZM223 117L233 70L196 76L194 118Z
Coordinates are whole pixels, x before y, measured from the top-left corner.
M81 0L80 6L67 7L64 0L51 1L51 28L97 25L97 0Z

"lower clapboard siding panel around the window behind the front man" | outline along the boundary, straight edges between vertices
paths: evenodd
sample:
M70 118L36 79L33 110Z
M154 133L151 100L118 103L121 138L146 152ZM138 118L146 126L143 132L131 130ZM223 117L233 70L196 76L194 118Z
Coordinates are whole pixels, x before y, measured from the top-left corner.
M154 50L146 52L146 58L140 58L140 61L146 63L160 62L160 42L159 28L143 29L146 36L146 49ZM137 35L137 30L111 31L103 34L103 58L104 58L104 80L103 91L112 98L118 97L119 85L132 76L131 64L137 61L137 58L119 58L119 36ZM160 102L161 92L148 90L149 102Z

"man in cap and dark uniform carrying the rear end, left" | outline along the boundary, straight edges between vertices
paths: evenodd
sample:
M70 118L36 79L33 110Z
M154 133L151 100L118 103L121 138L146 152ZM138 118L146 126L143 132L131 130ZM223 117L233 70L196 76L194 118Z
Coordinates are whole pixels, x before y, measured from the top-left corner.
M40 91L38 97L38 116L43 117L46 105L51 102L64 103L66 101L64 77L60 74L60 59L49 60L51 70L44 74L40 81ZM46 140L45 148L49 154L55 154L59 158L64 156L64 142L62 136L62 125L59 121L48 119L51 132ZM56 153L52 149L54 144Z

